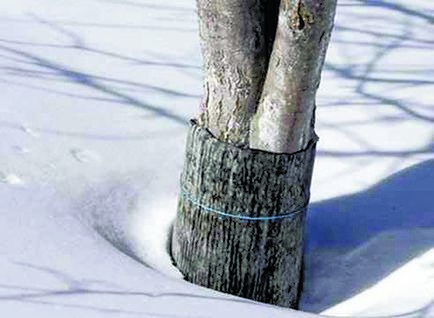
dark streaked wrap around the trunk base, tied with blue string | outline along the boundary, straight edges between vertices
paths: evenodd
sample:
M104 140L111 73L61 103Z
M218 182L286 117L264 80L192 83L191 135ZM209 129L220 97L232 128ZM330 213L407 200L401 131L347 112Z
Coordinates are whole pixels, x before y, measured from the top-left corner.
M241 149L192 121L172 240L186 280L296 306L316 141L292 154Z

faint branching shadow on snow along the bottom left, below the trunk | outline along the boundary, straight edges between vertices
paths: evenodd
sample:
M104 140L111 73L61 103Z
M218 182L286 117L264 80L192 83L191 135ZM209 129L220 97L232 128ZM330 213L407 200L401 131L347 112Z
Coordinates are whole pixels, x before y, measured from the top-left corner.
M0 288L6 292L0 295L0 302L20 302L32 303L47 306L56 306L64 308L81 309L99 314L112 314L113 316L132 315L132 316L150 316L150 317L167 317L167 318L180 318L180 317L195 317L186 316L181 314L164 314L161 312L149 312L131 310L128 303L122 305L118 301L125 298L139 297L143 303L160 301L162 298L167 299L195 299L196 301L221 301L221 302L235 302L235 303L248 303L255 304L250 300L227 298L219 296L201 295L194 293L183 292L149 292L149 291L131 291L122 289L116 284L109 281L102 280L89 280L73 277L66 272L58 269L50 268L45 265L38 265L28 262L13 262L14 265L20 266L26 271L36 271L40 274L48 275L53 281L64 286L62 288L38 288L27 287L22 285L12 285L5 281L0 281ZM107 296L112 299L110 305L89 305L89 299L95 297L100 299L102 296ZM77 298L79 297L79 298ZM72 301L70 300L72 299ZM97 301L101 303L101 301ZM106 303L106 302L103 302ZM146 307L146 306L145 306ZM197 316L198 317L198 316Z

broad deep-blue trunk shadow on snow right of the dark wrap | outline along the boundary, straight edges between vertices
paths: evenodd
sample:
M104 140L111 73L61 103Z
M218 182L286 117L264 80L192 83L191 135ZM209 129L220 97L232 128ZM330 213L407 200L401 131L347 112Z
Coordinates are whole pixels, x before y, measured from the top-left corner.
M301 309L330 308L433 248L432 180L428 160L361 193L311 204Z

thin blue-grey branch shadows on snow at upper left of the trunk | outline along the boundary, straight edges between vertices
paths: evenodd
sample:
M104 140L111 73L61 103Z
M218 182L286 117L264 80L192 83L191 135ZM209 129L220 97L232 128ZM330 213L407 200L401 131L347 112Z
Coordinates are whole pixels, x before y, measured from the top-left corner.
M89 54L100 56L105 59L105 63L109 62L125 62L136 65L137 67L162 67L176 69L178 72L188 76L194 75L200 67L188 63L177 63L170 61L167 57L159 57L156 59L145 59L142 57L128 56L115 50L101 49L93 47L81 37L81 33L71 31L68 26L77 26L73 22L57 22L45 20L36 15L30 15L29 20L25 22L40 24L43 27L50 29L59 34L60 37L66 38L67 44L53 43L37 43L32 41L23 41L20 39L0 39L0 58L6 63L0 68L6 78L2 78L1 82L15 86L22 86L30 89L36 89L47 93L62 95L74 99L93 100L96 102L113 103L130 107L141 108L148 113L163 117L178 125L185 125L188 119L180 115L176 110L170 108L153 105L150 102L143 101L136 97L135 93L151 93L159 94L160 96L173 98L198 98L197 94L190 93L179 89L171 89L147 83L132 81L129 79L121 79L111 76L100 76L88 71L78 70L68 64L59 63L53 58L48 58L43 54L37 53L39 48L49 48L60 51L76 51L77 54ZM90 27L91 25L83 24L79 27ZM97 26L98 27L98 26ZM116 27L116 25L115 25ZM146 72L143 69L142 72ZM194 72L194 74L192 73ZM13 78L31 79L32 82L15 82ZM53 88L50 83L72 83L87 89L90 89L91 94L81 94L71 91L58 90ZM42 84L41 84L42 83ZM44 83L47 83L45 85ZM102 94L102 95L101 95ZM92 96L96 95L96 96Z

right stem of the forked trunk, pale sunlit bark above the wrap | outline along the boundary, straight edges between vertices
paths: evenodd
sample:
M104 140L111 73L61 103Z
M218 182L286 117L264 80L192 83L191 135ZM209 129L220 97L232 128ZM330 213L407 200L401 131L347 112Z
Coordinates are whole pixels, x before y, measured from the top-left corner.
M291 153L311 140L335 10L336 0L281 1L261 101L251 122L251 148Z

